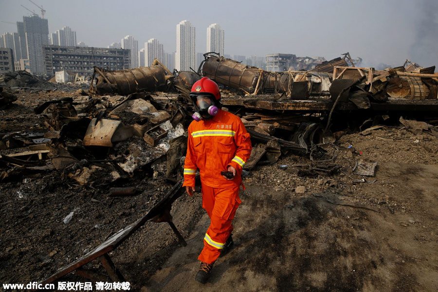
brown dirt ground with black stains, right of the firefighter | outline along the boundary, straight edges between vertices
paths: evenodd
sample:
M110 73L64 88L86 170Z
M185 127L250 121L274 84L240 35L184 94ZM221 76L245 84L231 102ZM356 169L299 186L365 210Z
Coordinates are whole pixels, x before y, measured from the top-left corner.
M348 148L336 161L346 174L331 177L286 172L281 165L306 161L293 155L257 166L240 195L236 246L215 263L209 283L193 280L204 216L190 237L196 243L178 248L143 291L436 291L437 139L397 146L376 137L350 134L337 143L379 162L375 177L367 178L374 183L353 181L361 178L351 173L359 154ZM407 147L434 150L397 150ZM299 186L304 193L296 192Z

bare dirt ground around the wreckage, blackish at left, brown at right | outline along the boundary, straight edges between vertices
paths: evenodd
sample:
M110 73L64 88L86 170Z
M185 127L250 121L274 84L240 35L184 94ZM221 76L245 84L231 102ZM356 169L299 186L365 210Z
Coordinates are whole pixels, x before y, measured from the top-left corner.
M46 132L33 109L74 97L77 88L63 90L17 91L14 105L0 111L0 132ZM134 291L437 291L438 139L391 125L335 145L338 174L300 177L292 165L310 163L309 156L290 153L244 177L235 248L206 285L194 281L209 224L200 194L172 207L187 247L167 223L148 222L110 256ZM352 173L359 159L378 162L374 177ZM165 162L154 169L155 179L138 171L103 187L78 186L57 171L1 182L1 282L40 281L145 215L172 187ZM139 192L113 198L112 186ZM97 261L87 267L103 272ZM75 274L63 280L84 281Z

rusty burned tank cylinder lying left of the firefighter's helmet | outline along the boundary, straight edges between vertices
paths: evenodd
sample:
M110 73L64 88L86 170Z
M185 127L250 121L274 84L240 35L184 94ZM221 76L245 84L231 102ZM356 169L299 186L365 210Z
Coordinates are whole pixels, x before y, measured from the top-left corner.
M96 73L98 75L94 88L92 81L94 81ZM173 73L157 59L150 67L135 69L111 71L94 67L90 91L98 94L117 93L121 95L128 95L137 91L157 91L168 87L173 78Z

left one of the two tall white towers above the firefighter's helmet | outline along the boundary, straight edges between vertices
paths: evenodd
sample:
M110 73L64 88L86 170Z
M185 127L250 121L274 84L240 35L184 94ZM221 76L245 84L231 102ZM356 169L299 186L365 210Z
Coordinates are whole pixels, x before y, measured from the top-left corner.
M195 27L190 21L183 20L177 24L177 51L175 54L175 68L178 71L189 71L196 67L195 56Z

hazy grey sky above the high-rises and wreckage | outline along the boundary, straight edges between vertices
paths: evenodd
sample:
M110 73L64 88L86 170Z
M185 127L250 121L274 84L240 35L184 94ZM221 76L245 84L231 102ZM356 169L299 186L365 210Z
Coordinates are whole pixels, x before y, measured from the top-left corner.
M205 53L206 28L225 30L225 54L272 53L324 56L350 52L365 65L402 65L406 58L438 67L438 0L33 0L42 4L49 33L70 26L77 41L107 47L132 35L139 42L155 37L165 52L176 51L176 25L196 27L196 51ZM29 0L0 0L2 21L40 14ZM17 32L0 22L0 33Z

